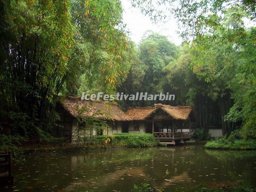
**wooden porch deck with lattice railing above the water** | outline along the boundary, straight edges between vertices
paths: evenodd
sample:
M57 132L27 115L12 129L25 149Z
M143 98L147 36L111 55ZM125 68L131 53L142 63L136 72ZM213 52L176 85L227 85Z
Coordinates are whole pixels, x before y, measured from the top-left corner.
M153 132L154 137L159 139L161 142L173 142L175 140L190 140L190 132Z

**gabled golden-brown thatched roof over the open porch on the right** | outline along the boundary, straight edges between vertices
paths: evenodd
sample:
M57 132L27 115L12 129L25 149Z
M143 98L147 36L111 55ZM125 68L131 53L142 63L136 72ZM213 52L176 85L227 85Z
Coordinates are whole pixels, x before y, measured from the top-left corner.
M176 120L188 120L196 121L196 116L191 106L177 106L173 107L170 105L155 104L155 107L136 107L129 108L126 115L132 120L149 120L154 112L162 109L168 115L172 116Z

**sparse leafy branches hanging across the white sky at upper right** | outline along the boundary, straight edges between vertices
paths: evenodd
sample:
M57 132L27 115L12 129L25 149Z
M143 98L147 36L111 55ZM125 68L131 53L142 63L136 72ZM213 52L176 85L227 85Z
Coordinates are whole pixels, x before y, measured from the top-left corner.
M229 15L230 18L243 20L247 15L250 20L256 20L256 3L253 0L131 0L133 7L139 7L140 11L148 15L153 22L177 20L180 36L184 42L195 40L204 44L214 41L218 36L219 27L222 26L225 15L230 9L236 10ZM233 42L244 36L244 28L236 25L233 32L222 38L222 42ZM209 36L210 35L210 36Z

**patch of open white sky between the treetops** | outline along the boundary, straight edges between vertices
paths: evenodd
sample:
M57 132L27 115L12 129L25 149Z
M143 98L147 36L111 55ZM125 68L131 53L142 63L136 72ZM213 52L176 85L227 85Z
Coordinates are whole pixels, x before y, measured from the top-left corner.
M138 8L131 6L131 2L122 0L124 8L123 21L130 31L130 38L136 44L140 43L141 37L147 30L159 33L160 35L168 36L169 41L176 45L180 45L182 39L177 34L178 26L176 21L168 20L166 23L153 24L148 16L143 15Z

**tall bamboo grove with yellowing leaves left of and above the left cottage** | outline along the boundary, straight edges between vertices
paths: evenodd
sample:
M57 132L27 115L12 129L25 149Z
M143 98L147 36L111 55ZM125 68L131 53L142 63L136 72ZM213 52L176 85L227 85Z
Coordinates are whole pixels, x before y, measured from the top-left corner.
M132 46L119 0L1 1L0 12L0 112L21 120L12 134L47 134L57 95L76 95L81 80L114 92L125 79Z

